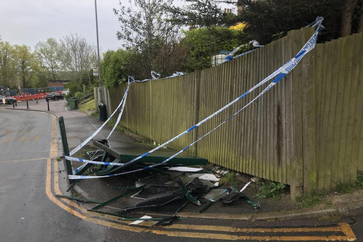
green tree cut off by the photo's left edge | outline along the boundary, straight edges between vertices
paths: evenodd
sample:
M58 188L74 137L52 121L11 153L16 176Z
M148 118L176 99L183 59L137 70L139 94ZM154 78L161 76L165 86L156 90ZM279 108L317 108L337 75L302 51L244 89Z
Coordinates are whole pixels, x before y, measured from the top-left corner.
M13 46L7 41L0 41L0 86L12 86L11 79L16 73L13 56Z

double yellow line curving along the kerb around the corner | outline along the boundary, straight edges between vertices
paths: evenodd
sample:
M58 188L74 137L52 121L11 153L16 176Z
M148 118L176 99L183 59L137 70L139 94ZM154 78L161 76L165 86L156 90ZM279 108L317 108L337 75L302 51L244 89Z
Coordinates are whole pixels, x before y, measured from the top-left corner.
M52 114L50 114L52 115ZM52 140L50 144L49 157L57 157L57 123L56 117L52 115ZM53 162L53 187L54 192L57 194L62 194L59 188L58 180L58 161ZM150 229L153 225L151 222L143 222L143 227L128 226L128 222L119 221L117 217L110 215L99 215L91 211L87 211L86 208L79 206L77 203L69 200L67 198L56 198L51 189L52 183L52 158L47 158L47 172L46 172L46 194L51 201L60 206L62 209L73 214L74 216L81 218L88 222L97 223L99 225L104 225L112 227L115 229L128 230L134 232L150 232L153 234L163 234L173 237L188 237L188 238L208 238L208 239L224 239L224 240L245 240L245 241L354 241L355 235L351 227L347 223L339 223L338 227L321 227L321 228L237 228L229 226L213 226L213 225L189 225L189 224L173 224L170 226L162 226L161 229ZM66 205L68 204L68 206ZM73 208L79 210L79 212ZM110 222L99 218L107 219ZM125 223L125 225L120 224ZM147 227L145 227L147 226ZM223 231L223 232L244 232L244 233L293 233L293 232L342 232L344 235L331 235L331 236L241 236L241 235L231 235L231 234L216 234L216 233L197 233L189 231L172 231L172 229L184 229L184 230L204 230L204 231Z

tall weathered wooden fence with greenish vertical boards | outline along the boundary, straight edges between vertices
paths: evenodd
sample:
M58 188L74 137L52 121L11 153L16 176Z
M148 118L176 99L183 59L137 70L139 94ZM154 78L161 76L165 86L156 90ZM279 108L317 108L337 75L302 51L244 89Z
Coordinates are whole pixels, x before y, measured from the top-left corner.
M121 125L164 143L290 60L313 33L314 28L291 30L287 36L222 65L131 83ZM331 190L338 182L355 180L357 170L363 169L362 56L362 33L318 44L260 99L186 152L289 184L293 198L303 189ZM121 101L126 85L103 88L108 114ZM179 151L189 145L265 86L168 147ZM98 102L98 89L94 92Z

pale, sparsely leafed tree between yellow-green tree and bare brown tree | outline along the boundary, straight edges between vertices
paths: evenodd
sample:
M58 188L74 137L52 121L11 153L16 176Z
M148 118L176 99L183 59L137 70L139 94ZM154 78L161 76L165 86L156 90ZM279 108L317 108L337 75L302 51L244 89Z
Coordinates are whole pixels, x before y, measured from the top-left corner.
M46 76L56 80L59 77L57 72L61 69L60 45L57 40L48 38L45 42L39 41L35 50Z

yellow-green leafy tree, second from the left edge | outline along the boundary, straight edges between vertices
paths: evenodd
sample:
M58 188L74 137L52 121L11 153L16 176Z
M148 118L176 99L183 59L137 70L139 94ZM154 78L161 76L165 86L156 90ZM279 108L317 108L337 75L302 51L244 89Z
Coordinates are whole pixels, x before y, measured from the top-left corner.
M17 71L20 73L23 88L29 88L36 82L36 73L41 71L36 54L31 52L27 45L15 45L14 60Z

